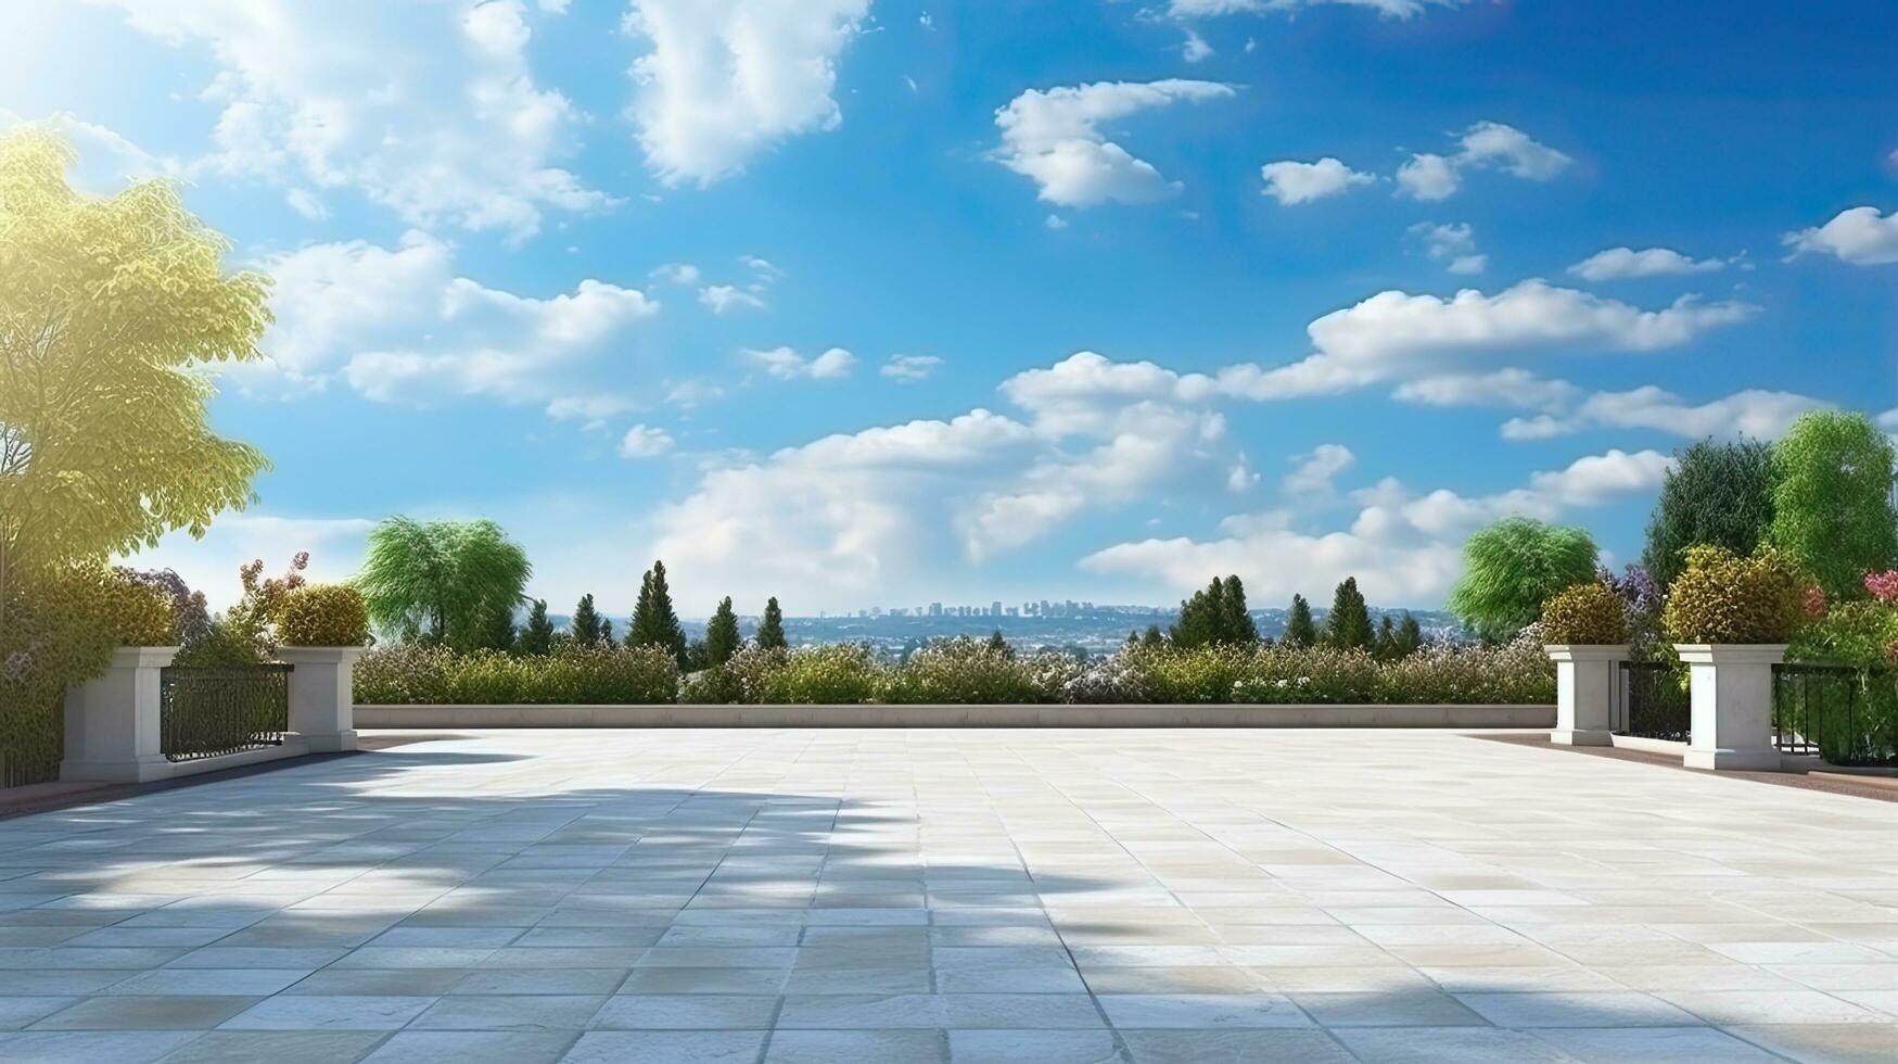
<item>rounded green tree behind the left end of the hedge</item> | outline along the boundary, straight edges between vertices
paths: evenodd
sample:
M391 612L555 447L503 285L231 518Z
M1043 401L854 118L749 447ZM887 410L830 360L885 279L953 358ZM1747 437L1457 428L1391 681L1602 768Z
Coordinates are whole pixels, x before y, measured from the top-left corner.
M497 616L512 619L533 566L493 521L389 517L368 534L355 585L370 621L467 650L488 646Z

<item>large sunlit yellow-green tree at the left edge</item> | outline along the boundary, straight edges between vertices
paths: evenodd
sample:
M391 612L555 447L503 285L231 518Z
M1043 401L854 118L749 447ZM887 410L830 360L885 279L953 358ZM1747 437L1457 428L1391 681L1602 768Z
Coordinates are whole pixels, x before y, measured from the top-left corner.
M266 466L211 431L195 367L262 357L270 277L224 270L169 182L84 196L72 160L42 129L0 137L0 659L32 657L34 581L203 534Z

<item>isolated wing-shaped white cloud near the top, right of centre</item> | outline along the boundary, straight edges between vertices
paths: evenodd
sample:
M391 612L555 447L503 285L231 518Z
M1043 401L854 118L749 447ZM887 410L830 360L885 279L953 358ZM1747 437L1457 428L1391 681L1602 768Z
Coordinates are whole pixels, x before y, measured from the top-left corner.
M1029 89L995 112L1002 131L995 160L1033 179L1044 201L1063 207L1165 200L1179 194L1179 182L1108 141L1099 125L1232 91L1232 86L1181 78Z

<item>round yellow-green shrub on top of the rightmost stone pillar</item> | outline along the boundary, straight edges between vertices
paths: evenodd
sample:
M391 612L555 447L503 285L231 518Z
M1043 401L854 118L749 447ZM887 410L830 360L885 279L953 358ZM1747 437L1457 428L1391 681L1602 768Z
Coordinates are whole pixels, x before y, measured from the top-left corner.
M1685 562L1661 614L1674 642L1775 644L1797 631L1807 581L1784 553L1701 545L1687 547Z

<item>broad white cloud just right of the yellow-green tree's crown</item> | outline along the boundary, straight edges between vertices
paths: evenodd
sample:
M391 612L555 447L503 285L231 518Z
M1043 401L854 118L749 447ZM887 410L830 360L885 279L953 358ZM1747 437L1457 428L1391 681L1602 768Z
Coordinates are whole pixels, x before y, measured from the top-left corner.
M342 376L378 401L457 395L554 401L564 370L659 314L638 289L583 279L550 298L454 276L454 249L423 232L397 247L317 243L268 258L277 323L264 338L277 384ZM249 386L266 370L233 367Z

